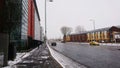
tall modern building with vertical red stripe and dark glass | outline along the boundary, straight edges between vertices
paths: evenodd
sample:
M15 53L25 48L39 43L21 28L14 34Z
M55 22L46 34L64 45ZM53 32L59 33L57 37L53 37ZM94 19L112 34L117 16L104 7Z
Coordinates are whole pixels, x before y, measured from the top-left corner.
M40 28L36 0L0 0L0 54L4 53L4 65L14 46L17 50L36 47L33 41L40 40Z

